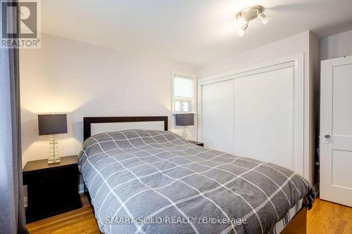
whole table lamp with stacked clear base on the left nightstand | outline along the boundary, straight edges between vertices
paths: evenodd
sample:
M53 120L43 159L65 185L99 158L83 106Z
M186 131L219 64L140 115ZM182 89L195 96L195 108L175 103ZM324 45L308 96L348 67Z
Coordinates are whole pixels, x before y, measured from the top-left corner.
M67 115L38 115L39 136L49 136L48 164L60 162L58 154L58 135L67 134Z

